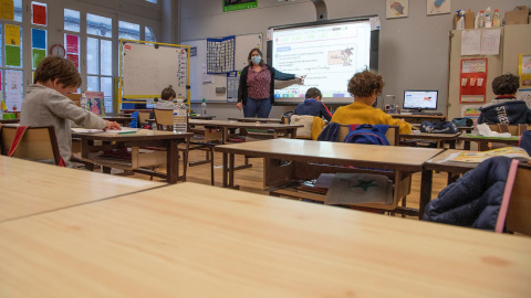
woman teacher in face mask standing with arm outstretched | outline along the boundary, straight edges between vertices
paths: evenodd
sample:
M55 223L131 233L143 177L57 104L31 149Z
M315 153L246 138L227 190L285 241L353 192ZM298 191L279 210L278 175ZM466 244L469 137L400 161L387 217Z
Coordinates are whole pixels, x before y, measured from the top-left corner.
M262 52L254 47L247 57L249 65L243 67L238 88L238 104L236 107L243 108L246 118L269 118L269 113L274 104L274 79L294 79L294 74L284 74L266 64ZM299 83L302 77L298 77Z

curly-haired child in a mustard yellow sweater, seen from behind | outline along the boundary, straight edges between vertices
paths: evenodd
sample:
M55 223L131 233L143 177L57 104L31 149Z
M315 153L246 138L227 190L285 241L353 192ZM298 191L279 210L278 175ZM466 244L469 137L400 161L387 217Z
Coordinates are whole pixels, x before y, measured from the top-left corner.
M347 89L354 96L354 103L347 106L339 107L332 116L332 123L341 125L368 124L368 125L389 125L398 126L400 134L410 134L412 125L394 119L379 108L374 108L373 104L376 97L384 88L382 75L371 71L363 71L354 74L348 82Z

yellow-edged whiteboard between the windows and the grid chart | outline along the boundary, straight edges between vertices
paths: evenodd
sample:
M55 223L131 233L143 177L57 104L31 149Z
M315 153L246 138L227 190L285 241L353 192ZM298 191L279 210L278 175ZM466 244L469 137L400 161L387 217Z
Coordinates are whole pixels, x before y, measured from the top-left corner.
M173 86L187 98L188 46L126 42L123 47L123 97L154 97Z

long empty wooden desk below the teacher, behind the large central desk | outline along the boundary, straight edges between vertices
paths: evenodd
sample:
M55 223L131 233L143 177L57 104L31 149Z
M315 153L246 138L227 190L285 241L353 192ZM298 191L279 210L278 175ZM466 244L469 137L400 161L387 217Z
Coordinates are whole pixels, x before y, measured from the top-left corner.
M273 138L278 138L280 134L290 135L292 139L296 138L296 129L302 125L287 125L287 124L269 124L269 123L240 123L229 120L189 120L190 125L204 126L206 128L219 128L222 130L222 141L228 142L229 129L263 129L273 130Z

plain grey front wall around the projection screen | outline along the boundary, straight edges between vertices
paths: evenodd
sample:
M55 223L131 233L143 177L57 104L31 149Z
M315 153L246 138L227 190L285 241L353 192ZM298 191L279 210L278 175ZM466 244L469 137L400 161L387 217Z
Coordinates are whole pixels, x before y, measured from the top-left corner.
M383 95L396 95L396 104L402 105L405 88L438 89L442 98L439 111L442 113L446 113L448 96L448 33L452 29L455 11L472 9L478 12L490 6L503 14L516 6L530 6L529 0L454 0L452 13L426 15L426 1L409 0L407 18L386 20L385 2L325 0L329 20L367 14L381 17L379 72L385 81ZM309 0L259 0L257 9L225 13L221 4L219 0L180 0L180 40L256 32L266 34L269 26L315 21L315 8ZM278 117L292 108L275 106L270 116ZM210 104L210 114L212 109L217 119L241 116L233 104Z

